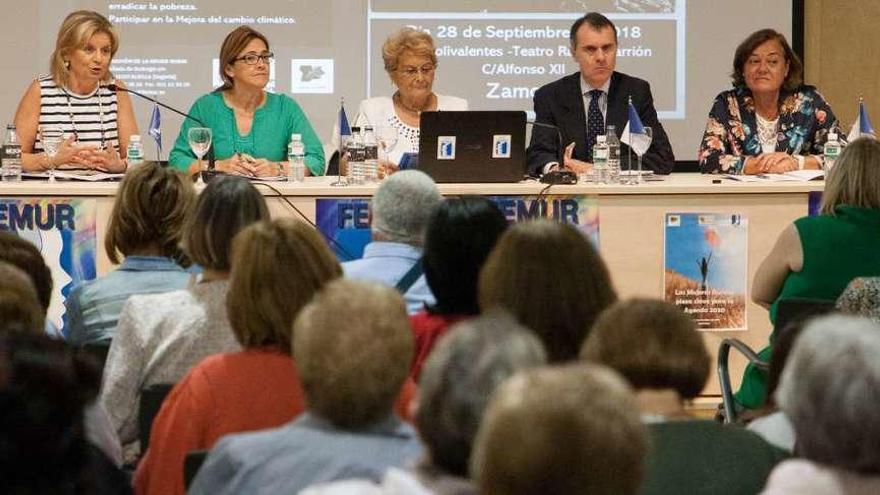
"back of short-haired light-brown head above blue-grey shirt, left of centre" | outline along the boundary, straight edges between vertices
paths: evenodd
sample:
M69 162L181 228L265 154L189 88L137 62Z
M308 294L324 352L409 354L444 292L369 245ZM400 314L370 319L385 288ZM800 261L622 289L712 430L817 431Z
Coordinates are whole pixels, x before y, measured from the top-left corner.
M391 414L412 356L406 306L390 287L335 280L294 322L293 358L308 408L342 429Z

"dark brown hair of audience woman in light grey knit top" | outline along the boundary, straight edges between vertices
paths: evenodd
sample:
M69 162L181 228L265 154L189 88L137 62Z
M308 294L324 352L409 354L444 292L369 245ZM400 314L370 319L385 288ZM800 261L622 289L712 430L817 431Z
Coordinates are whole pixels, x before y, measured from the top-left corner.
M199 195L184 229L184 251L204 268L228 271L232 240L248 225L269 219L266 201L247 179L220 176Z

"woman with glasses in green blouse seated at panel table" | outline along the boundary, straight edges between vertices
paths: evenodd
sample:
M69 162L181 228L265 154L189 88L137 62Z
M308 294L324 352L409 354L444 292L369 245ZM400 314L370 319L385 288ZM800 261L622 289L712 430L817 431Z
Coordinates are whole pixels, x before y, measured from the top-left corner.
M189 114L211 128L220 172L250 177L286 174L287 144L296 133L305 145L306 173L323 175L324 149L302 108L287 95L264 89L272 57L265 36L248 26L236 28L220 48L223 85L196 100ZM184 120L170 166L198 172L187 134L199 126L193 119Z

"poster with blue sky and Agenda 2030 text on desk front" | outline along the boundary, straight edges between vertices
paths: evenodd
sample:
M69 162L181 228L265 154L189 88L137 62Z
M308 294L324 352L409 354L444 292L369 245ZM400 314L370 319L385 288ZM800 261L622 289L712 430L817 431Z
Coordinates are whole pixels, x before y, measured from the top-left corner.
M700 330L746 329L748 219L739 213L667 213L666 301Z

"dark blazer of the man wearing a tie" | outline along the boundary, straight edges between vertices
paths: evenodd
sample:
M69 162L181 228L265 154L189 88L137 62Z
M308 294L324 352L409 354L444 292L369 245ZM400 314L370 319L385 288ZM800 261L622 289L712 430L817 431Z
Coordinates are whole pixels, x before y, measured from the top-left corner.
M534 98L535 120L559 127L562 132L563 149L574 141L572 156L578 160L592 162L592 150L586 149L587 117L584 113L580 77L580 72L575 72L538 89ZM666 131L657 120L651 86L646 81L616 71L611 74L605 124L616 126L618 136L623 134L629 116L627 102L630 96L639 112L639 118L644 125L651 127L654 136L651 148L642 157L642 167L660 174L672 172L675 156L672 154L672 146L669 144ZM559 161L562 150L559 149L557 142L558 137L553 129L538 126L532 128L532 140L526 150L530 174L540 175L544 165ZM628 158L629 147L621 143L620 161L624 167L629 163ZM633 162L635 160L633 155Z

